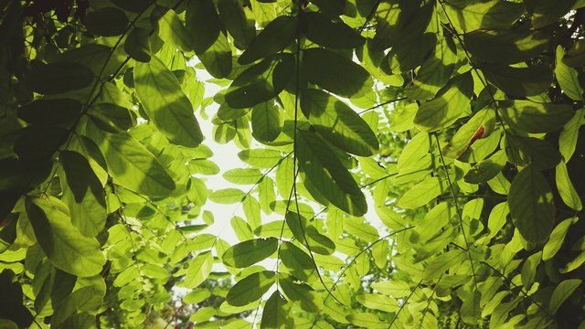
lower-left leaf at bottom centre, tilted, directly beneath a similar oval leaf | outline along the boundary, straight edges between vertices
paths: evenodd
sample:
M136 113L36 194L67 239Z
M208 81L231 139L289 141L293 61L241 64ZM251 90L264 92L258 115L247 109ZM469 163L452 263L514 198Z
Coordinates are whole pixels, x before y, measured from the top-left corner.
M276 239L275 239L276 240ZM226 301L233 306L244 306L261 299L276 280L273 271L260 271L236 282L228 292Z

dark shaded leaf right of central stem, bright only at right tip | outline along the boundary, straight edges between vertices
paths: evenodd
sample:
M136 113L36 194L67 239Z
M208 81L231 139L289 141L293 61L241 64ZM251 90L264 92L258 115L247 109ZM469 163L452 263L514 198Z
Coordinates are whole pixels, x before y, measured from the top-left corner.
M307 80L322 89L343 97L363 96L373 85L366 69L349 58L323 48L303 51L301 72Z

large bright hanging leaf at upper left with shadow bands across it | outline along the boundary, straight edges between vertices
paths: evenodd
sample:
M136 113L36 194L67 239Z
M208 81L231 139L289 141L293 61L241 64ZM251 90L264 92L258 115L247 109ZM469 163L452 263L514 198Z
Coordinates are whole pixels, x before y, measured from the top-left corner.
M191 102L160 59L154 57L148 63L136 63L134 85L149 119L169 141L187 147L203 141Z

